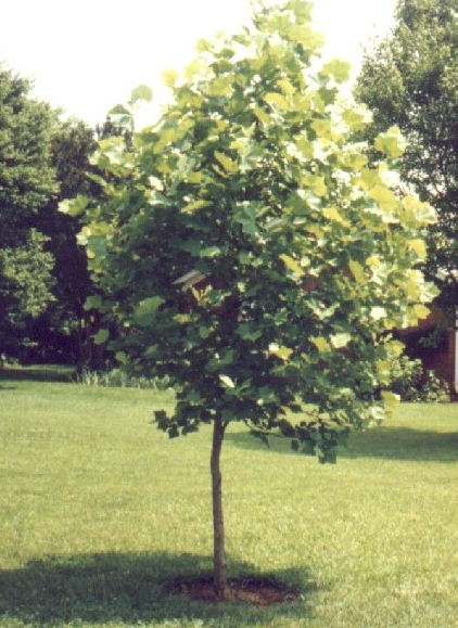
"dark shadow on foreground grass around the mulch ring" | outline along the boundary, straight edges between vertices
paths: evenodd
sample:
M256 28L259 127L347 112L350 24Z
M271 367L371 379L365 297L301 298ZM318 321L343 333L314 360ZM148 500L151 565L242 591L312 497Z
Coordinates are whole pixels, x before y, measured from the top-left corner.
M230 562L231 575L256 575L247 564ZM300 586L302 600L257 608L247 604L191 601L170 593L167 585L179 577L205 575L212 559L199 555L87 554L30 561L21 568L0 571L0 618L40 628L69 621L128 624L199 619L202 626L255 625L288 615L310 616L316 587L304 571L270 573L285 585ZM200 624L201 625L201 624Z

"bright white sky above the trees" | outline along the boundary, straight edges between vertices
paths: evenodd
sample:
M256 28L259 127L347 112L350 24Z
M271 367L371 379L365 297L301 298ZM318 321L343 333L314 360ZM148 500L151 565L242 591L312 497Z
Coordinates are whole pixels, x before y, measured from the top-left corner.
M395 0L315 0L325 55L357 67L385 35ZM164 101L162 72L193 60L195 41L239 30L249 0L0 0L0 61L35 82L34 95L93 125L139 84Z

